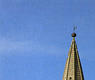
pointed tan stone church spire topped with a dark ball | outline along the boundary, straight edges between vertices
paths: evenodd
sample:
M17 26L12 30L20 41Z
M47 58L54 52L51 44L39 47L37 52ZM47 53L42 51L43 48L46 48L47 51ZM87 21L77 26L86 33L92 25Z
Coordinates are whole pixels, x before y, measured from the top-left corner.
M73 40L65 65L63 80L84 80L82 66L75 41L76 33L72 34Z

